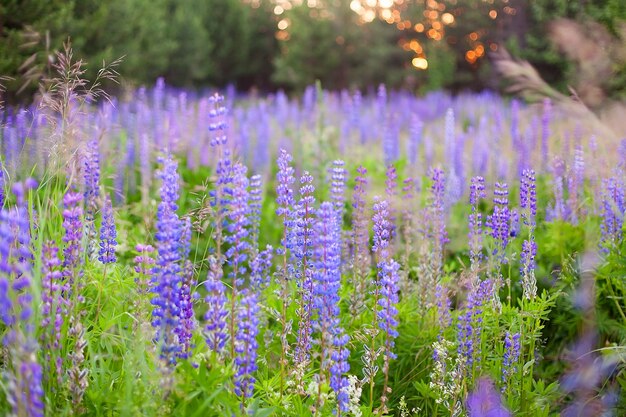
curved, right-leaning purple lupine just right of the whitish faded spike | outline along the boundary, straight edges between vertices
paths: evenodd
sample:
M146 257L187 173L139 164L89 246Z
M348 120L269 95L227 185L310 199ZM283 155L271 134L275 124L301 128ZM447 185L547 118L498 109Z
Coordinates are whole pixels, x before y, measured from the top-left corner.
M483 306L491 295L491 286L491 280L484 280L471 288L463 314L459 317L458 353L465 358L465 363L469 366L468 374L471 373L473 367L476 369L480 367L482 312Z

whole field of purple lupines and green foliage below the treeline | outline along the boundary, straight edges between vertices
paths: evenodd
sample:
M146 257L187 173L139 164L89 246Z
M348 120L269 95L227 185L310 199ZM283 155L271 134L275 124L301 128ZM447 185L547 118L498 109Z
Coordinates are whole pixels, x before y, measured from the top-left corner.
M626 415L626 142L559 103L57 87L3 110L2 415Z

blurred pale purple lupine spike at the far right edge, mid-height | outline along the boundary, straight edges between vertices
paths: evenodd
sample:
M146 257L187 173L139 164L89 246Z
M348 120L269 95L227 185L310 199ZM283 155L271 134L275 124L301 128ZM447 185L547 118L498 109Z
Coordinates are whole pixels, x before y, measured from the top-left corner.
M621 243L625 213L626 199L622 181L617 177L603 180L602 223L600 224L600 230L602 231L600 246L602 251L608 252L611 248Z

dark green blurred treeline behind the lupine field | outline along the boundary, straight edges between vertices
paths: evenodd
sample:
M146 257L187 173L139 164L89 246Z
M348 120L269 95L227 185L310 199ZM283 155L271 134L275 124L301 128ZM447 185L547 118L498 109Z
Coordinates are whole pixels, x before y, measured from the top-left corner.
M626 19L622 0L509 0L517 13L498 19L489 17L494 2L458 0L443 2L458 14L437 42L379 19L357 24L350 1L318 0L323 13L303 3L276 16L268 0L4 0L0 74L13 78L5 82L9 100L27 99L35 81L45 77L54 51L71 37L75 55L91 64L87 77L93 78L103 60L124 56L118 70L131 85L152 84L163 76L174 86L233 84L240 91L299 91L316 79L329 89L378 83L421 90L494 87L497 78L488 59L471 64L465 59L463 39L479 31L486 45L506 45L566 90L576 84L580 63L550 40L548 26L559 18L598 22L619 40ZM427 2L407 3L402 15L416 23ZM281 19L289 20L288 38L277 40ZM414 51L400 46L416 37L428 58L427 71L416 70ZM625 90L626 66L620 62L610 64L611 77L603 87L611 96Z

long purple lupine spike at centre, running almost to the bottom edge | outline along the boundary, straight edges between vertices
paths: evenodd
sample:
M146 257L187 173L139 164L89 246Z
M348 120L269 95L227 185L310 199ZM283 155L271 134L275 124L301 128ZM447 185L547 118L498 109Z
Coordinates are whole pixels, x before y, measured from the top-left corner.
M337 393L338 407L347 411L345 393L349 369L346 349L347 335L339 321L339 287L341 286L341 246L336 216L332 203L324 202L317 212L315 223L315 272L313 274L313 307L316 313L314 329L319 332L322 351L320 373L325 380L330 373L331 388Z

